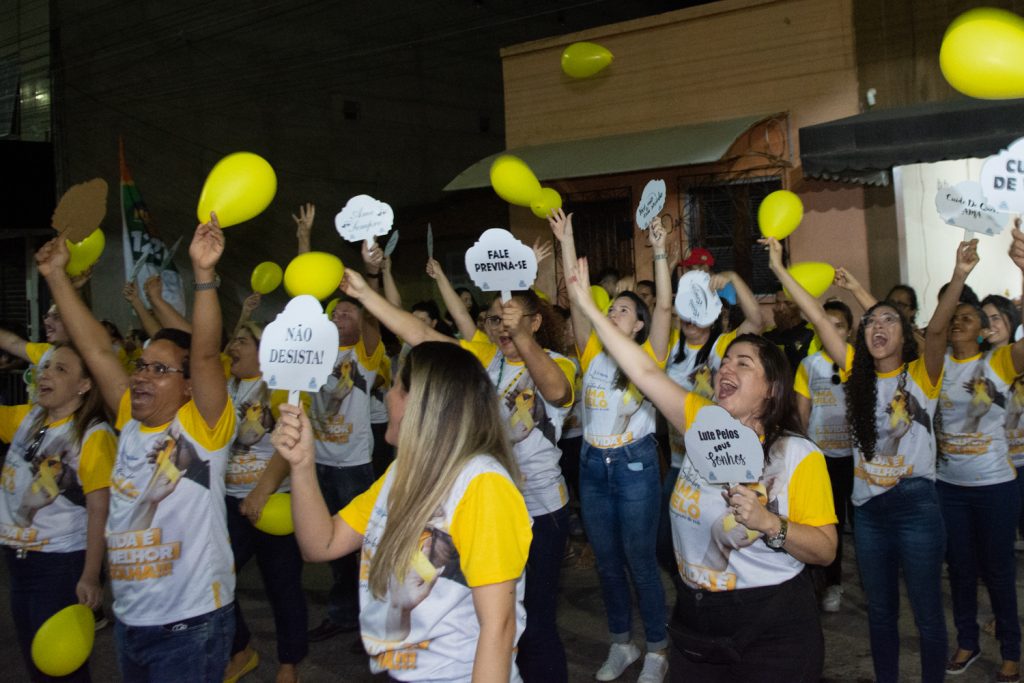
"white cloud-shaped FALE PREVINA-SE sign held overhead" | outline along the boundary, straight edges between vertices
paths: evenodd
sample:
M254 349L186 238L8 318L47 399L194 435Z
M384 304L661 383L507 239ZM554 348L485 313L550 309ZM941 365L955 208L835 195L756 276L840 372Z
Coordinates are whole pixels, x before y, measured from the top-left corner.
M466 272L482 291L501 292L508 301L514 290L534 285L537 256L508 230L492 227L466 252Z

